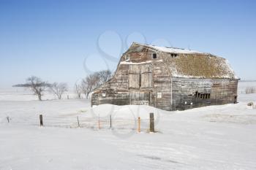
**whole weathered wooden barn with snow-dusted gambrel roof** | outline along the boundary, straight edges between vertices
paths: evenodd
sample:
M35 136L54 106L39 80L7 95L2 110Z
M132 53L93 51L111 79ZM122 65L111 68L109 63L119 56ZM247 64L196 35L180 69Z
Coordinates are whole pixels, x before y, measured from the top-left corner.
M146 104L181 110L237 101L238 77L225 58L194 50L133 43L91 105Z

